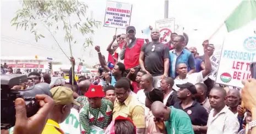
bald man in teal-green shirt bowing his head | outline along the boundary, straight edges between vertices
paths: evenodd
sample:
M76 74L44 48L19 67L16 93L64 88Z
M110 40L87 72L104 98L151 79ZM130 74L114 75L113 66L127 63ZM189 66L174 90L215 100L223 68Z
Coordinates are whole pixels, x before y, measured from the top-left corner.
M156 101L151 105L155 121L165 121L168 134L194 134L190 118L183 110L166 107L164 103Z

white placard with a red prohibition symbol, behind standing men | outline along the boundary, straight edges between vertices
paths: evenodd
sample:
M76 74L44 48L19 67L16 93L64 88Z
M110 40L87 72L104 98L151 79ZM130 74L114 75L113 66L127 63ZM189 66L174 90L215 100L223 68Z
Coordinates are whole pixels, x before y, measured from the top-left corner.
M165 19L156 21L156 28L160 30L160 42L168 43L171 40L171 33L175 30L175 19Z

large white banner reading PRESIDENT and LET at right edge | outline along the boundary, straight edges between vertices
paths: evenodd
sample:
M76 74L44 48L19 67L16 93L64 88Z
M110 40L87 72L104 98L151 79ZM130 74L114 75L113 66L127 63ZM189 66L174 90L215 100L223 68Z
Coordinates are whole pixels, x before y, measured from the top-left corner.
M255 61L255 34L248 30L228 33L221 51L216 83L242 88L241 81L251 78L250 62Z

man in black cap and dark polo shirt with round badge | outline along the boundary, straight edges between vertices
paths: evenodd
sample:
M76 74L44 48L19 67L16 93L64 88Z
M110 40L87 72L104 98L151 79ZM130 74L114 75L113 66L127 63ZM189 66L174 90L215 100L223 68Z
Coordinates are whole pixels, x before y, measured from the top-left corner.
M177 86L180 88L178 90L178 98L181 101L176 102L173 107L181 109L188 114L195 133L206 132L208 113L203 106L193 100L194 95L197 94L197 89L192 83L177 84Z

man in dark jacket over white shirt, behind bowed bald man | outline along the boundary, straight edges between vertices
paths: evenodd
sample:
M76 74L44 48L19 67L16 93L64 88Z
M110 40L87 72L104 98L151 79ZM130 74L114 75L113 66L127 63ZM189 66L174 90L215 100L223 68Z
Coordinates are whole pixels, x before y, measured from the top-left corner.
M171 77L166 77L161 80L160 86L162 92L164 92L164 104L167 107L173 106L179 101L177 91L172 89L174 80Z

